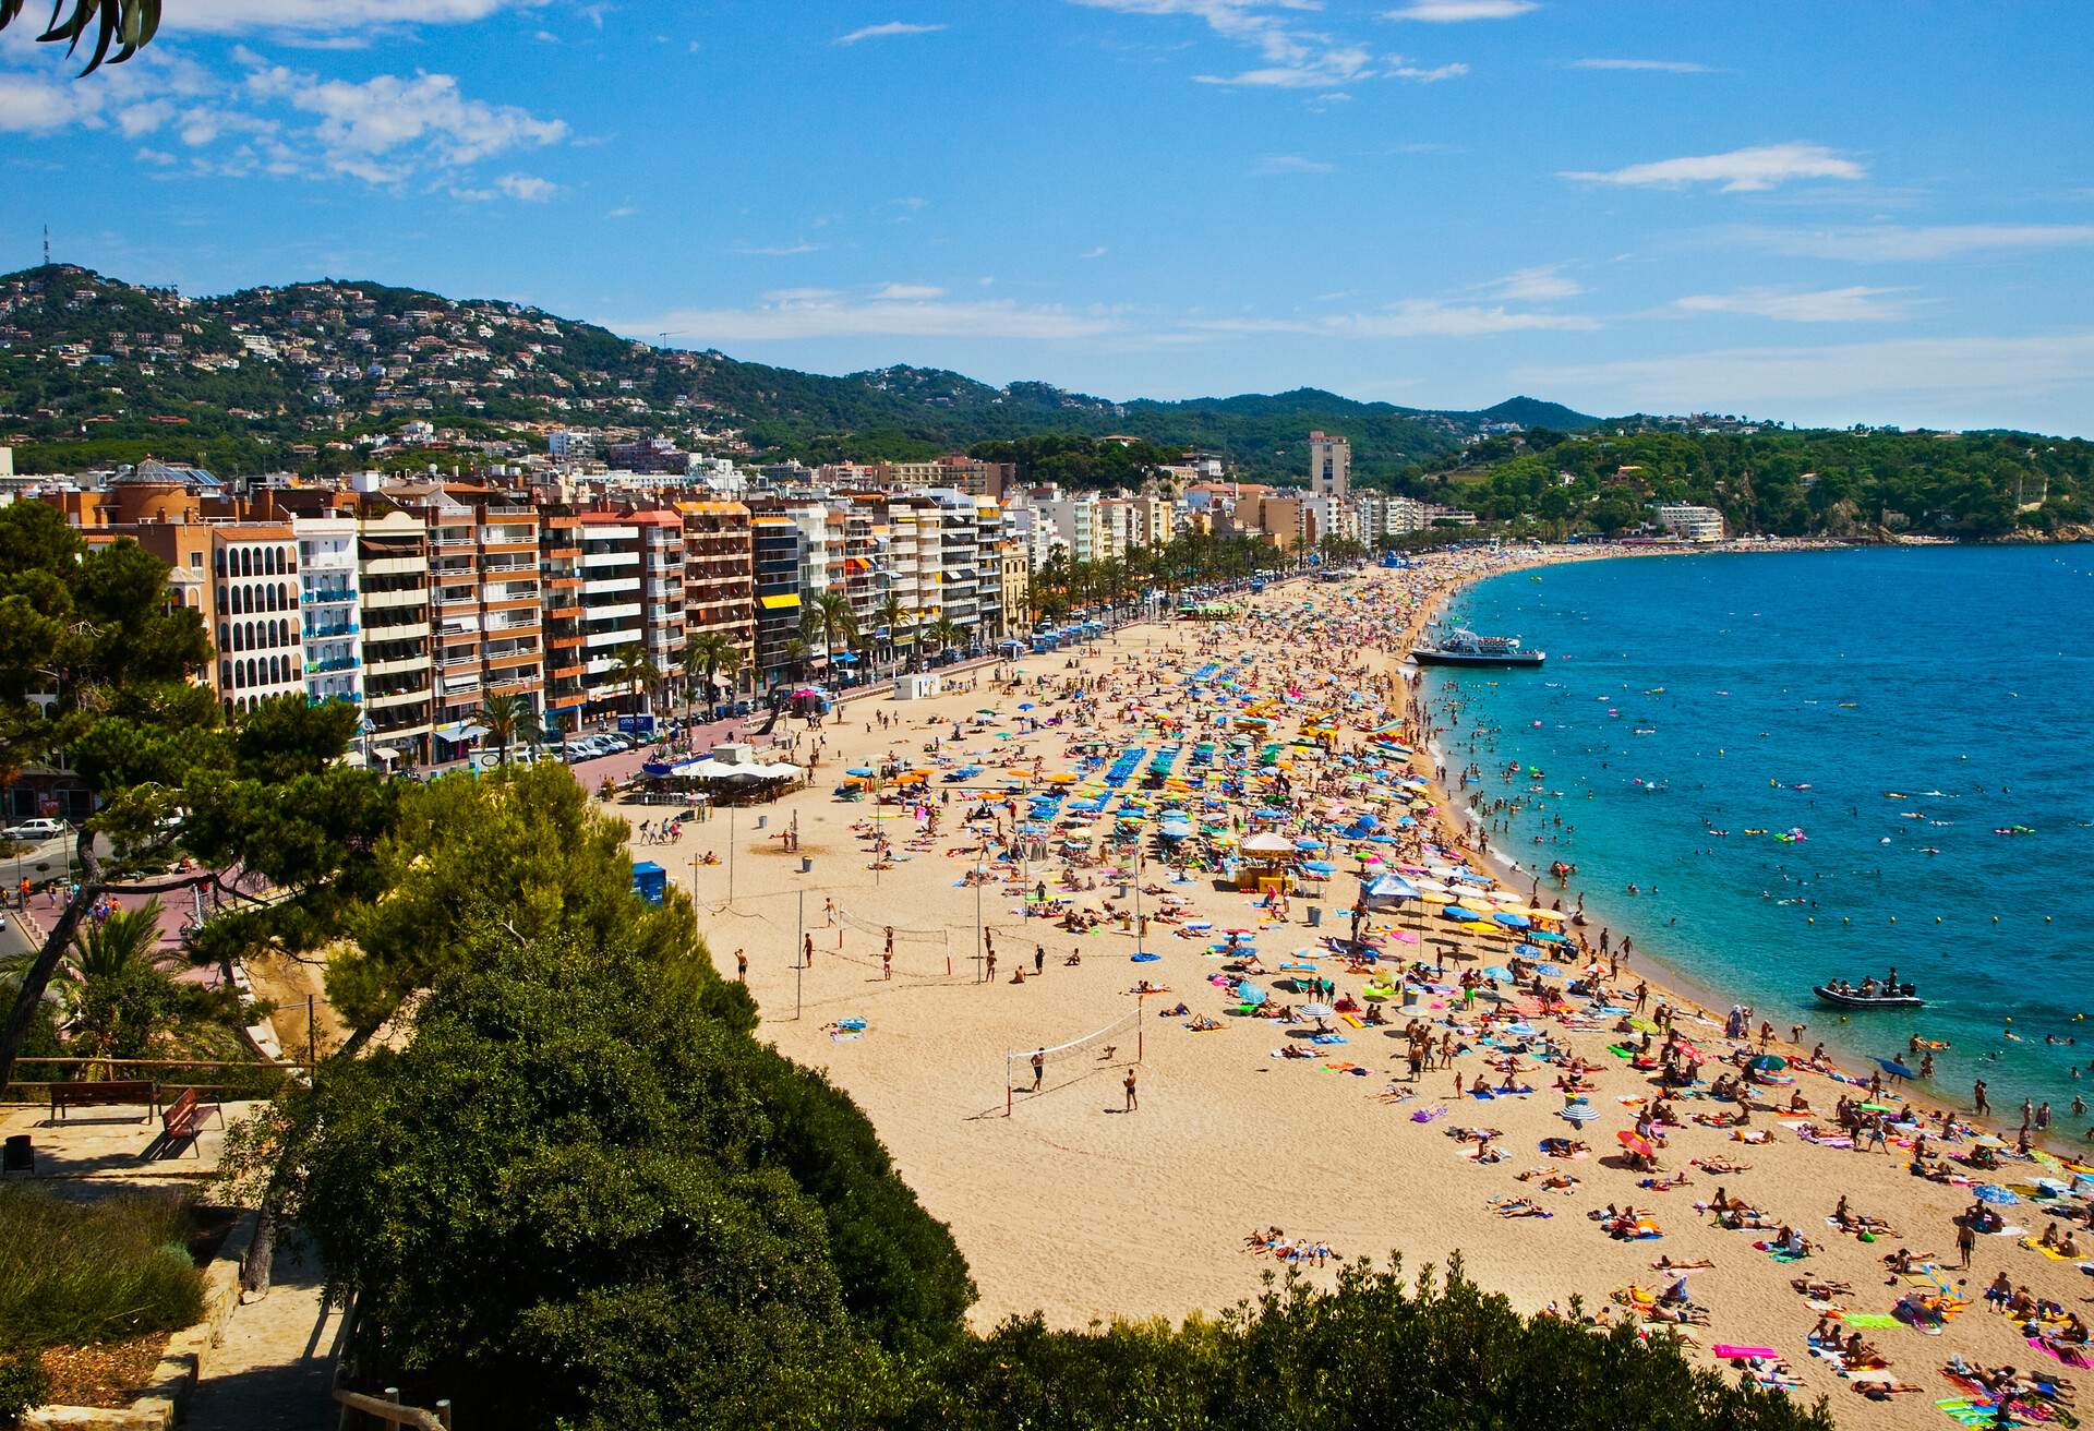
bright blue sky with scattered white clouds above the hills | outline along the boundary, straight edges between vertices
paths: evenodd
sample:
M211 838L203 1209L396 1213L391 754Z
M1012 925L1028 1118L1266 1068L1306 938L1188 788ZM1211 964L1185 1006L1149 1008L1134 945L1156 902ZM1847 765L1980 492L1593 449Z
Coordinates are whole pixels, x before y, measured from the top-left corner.
M815 371L2094 432L2084 0L165 2L84 82L0 42L0 266L48 222Z

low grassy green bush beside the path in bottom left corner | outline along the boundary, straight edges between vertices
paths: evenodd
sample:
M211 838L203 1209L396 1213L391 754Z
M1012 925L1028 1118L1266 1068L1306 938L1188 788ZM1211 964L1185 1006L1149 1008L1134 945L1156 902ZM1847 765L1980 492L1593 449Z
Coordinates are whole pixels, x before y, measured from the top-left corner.
M176 1198L0 1188L0 1353L188 1326L203 1316L188 1230Z

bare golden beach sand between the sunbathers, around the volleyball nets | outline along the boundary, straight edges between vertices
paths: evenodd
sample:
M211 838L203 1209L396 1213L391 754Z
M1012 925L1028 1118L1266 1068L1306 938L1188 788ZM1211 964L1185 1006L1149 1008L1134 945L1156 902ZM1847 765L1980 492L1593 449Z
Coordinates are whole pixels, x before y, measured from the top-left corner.
M1338 603L1365 591L1374 612L1393 616L1401 593L1409 612L1422 616L1428 601L1476 574L1480 559L1436 559L1422 572L1376 570L1344 587L1284 582L1256 603L1300 610L1307 601L1321 618L1326 612L1336 616ZM1349 618L1357 616L1357 610L1349 612ZM1367 658L1382 677L1397 668L1403 654L1399 635L1390 629L1382 650L1349 650L1346 658ZM760 1037L827 1071L850 1092L894 1154L900 1175L936 1217L951 1224L980 1286L978 1324L1032 1309L1043 1309L1057 1326L1219 1312L1254 1295L1261 1278L1279 1270L1273 1257L1244 1245L1254 1228L1277 1226L1290 1238L1326 1242L1342 1257L1401 1253L1411 1270L1460 1253L1470 1276L1529 1312L1552 1301L1568 1305L1575 1295L1587 1309L1604 1307L1617 1289L1665 1286L1667 1278L1650 1265L1661 1253L1671 1259L1707 1257L1715 1265L1694 1274L1692 1291L1694 1301L1711 1309L1711 1324L1690 1328L1705 1347L1690 1356L1709 1362L1707 1347L1717 1343L1774 1347L1801 1377L1801 1395L1830 1395L1836 1418L1853 1427L1931 1418L1929 1402L1958 1395L1939 1370L1952 1351L1981 1364L2063 1370L2031 1349L2008 1318L1989 1312L1981 1293L2006 1268L2017 1282L2086 1316L2084 1299L2094 1282L2067 1261L2019 1249L2012 1236L1981 1236L1970 1272L1954 1272L1950 1219L1968 1207L1970 1192L1908 1175L1901 1152L1887 1157L1811 1146L1774 1117L1755 1115L1755 1127L1780 1129L1767 1146L1744 1146L1721 1129L1671 1129L1663 1165L1692 1173L1694 1182L1669 1192L1644 1190L1638 1186L1644 1173L1619 1165L1614 1133L1635 1117L1621 1100L1652 1089L1648 1075L1606 1052L1614 1039L1610 1033L1566 1037L1575 1052L1602 1064L1598 1092L1591 1094L1600 1117L1583 1131L1556 1117L1562 1108L1562 1098L1550 1089L1556 1069L1535 1069L1533 1058L1522 1060L1531 1069L1524 1081L1541 1092L1529 1098L1451 1098L1455 1073L1474 1079L1485 1069L1480 1054L1466 1054L1453 1071L1426 1073L1411 1100L1390 1104L1382 1094L1393 1081L1399 1089L1411 1087L1395 1029L1342 1029L1349 1043L1319 1050L1369 1069L1365 1077L1332 1071L1321 1056L1273 1058L1273 1050L1290 1039L1271 1020L1225 1018L1221 1031L1187 1031L1185 1018L1162 1018L1158 1010L1183 999L1194 1014L1219 1016L1227 1001L1206 983L1221 964L1208 955L1206 939L1181 939L1166 926L1152 926L1145 943L1162 957L1133 964L1135 939L1116 926L1070 934L1051 920L1024 918L1022 897L1003 884L980 893L965 886L976 857L946 853L955 844L976 844L961 836L957 802L930 849L907 851L909 859L875 872L852 830L871 817L873 805L831 796L846 767L877 765L890 752L928 767L932 756L923 746L934 731L926 723L978 708L999 714L988 733L963 746L963 754L978 756L986 771L1016 769L1020 750L1028 761L1043 756L1047 771L1068 771L1068 729L993 737L1013 729L1020 702L1037 702L1034 717L1070 710L1068 704L1049 704L1049 696L1032 685L1037 677L1116 677L1124 687L1137 673L1141 679L1156 673L1164 691L1175 696L1183 670L1204 660L1258 658L1258 679L1271 683L1282 664L1309 656L1300 647L1252 650L1269 633L1261 637L1244 622L1131 626L1081 654L1016 662L1026 681L1022 694L995 689L988 673L974 673L961 677L974 683L972 689L934 700L896 702L882 694L842 706L823 729L798 735L794 758L804 761L812 742L823 742L808 788L735 815L731 905L725 813L685 825L672 846L634 844L634 857L660 861L670 878L693 890L714 962L727 976L735 972L735 951L745 951L750 989L762 1010ZM1202 641L1219 643L1219 656L1198 654ZM1072 660L1078 664L1070 666ZM1083 735L1104 737L1110 750L1160 744L1154 733L1120 725L1116 706L1116 700L1104 702L1099 725ZM867 729L875 712L898 725ZM794 727L800 729L800 723ZM942 725L938 733L949 735L951 727ZM1292 731L1282 725L1277 733ZM1340 733L1346 748L1359 740L1353 729ZM1420 773L1430 777L1428 758L1418 763ZM934 800L940 790L942 784L932 781ZM658 817L662 807L614 811L639 821ZM900 844L900 832L913 825L898 817L896 807L884 813ZM758 817L764 830L756 828ZM775 836L794 821L800 849L787 853ZM706 851L722 863L691 863ZM802 855L812 865L808 874L800 872ZM1049 884L1057 869L1057 859L1030 867L1032 878ZM1148 880L1158 878L1168 878L1168 872L1150 863ZM1095 905L1114 895L1108 880L1099 884L1099 890L1078 899ZM1187 918L1208 918L1217 928L1258 930L1261 953L1273 966L1279 962L1273 955L1311 947L1319 934L1342 937L1357 884L1340 874L1326 899L1296 899L1286 928L1261 928L1250 899L1225 893L1210 878L1196 876L1171 888L1189 895L1194 909ZM831 899L852 922L942 930L942 937L905 934L896 945L892 978L884 978L882 937L827 922L825 901ZM1543 899L1550 899L1547 890ZM1317 905L1323 926L1311 928L1309 911ZM978 974L978 909L999 953L995 983ZM798 966L802 930L812 934L812 968ZM1034 945L1045 945L1043 976L1030 976ZM1078 968L1064 966L1072 947L1083 953ZM1020 957L1028 978L1016 985L1009 970ZM1497 962L1497 955L1483 962ZM1340 968L1340 960L1326 957L1319 972L1338 976ZM1648 974L1646 968L1623 970L1621 985L1633 989L1635 976ZM1051 1056L1043 1089L1016 1094L1005 1117L1007 1054L1020 1056L1013 1077L1030 1087L1024 1056L1037 1045L1062 1043L1129 1016L1137 978L1173 991L1164 999L1148 999L1139 1016L1139 1110L1122 1110L1122 1077L1137 1043L1129 1029L1114 1039L1112 1058L1095 1048ZM1340 976L1342 989L1357 991L1359 983ZM1652 983L1656 1004L1665 995ZM1428 1008L1416 1012L1441 1016ZM1397 1027L1405 1016L1390 1008ZM833 1025L844 1018L863 1018L863 1035L838 1035ZM1730 1048L1719 1025L1684 1022L1681 1029L1713 1056ZM1497 1077L1491 1081L1497 1083ZM1805 1071L1799 1085L1822 1117L1830 1115L1841 1094L1836 1083ZM1788 1089L1778 1092L1786 1102ZM1436 1121L1411 1119L1413 1110L1439 1106L1447 1113ZM1681 1113L1711 1106L1681 1104ZM1449 1138L1449 1125L1501 1129L1499 1146L1510 1157L1497 1165L1466 1159L1468 1144ZM1537 1140L1573 1133L1591 1144L1589 1159L1552 1163L1537 1152ZM1717 1154L1751 1163L1751 1171L1709 1175L1690 1167L1690 1159ZM1516 1177L1539 1167L1568 1169L1583 1186L1570 1194L1541 1192ZM2027 1171L2002 1177L2019 1182ZM1795 1224L1822 1251L1782 1265L1753 1247L1755 1238L1769 1234L1713 1228L1696 1203L1713 1196L1717 1186ZM1889 1219L1906 1236L1864 1245L1839 1234L1826 1219L1843 1192L1857 1211ZM1497 1217L1491 1198L1514 1194L1535 1196L1552 1215ZM1608 1203L1652 1211L1663 1238L1612 1240L1585 1215ZM2006 1213L2010 1226L2023 1221L2042 1230L2044 1219L2027 1205ZM1939 1253L1950 1268L1943 1276L1960 1282L1973 1305L1941 1337L1903 1324L1870 1328L1866 1337L1889 1356L1893 1372L1922 1387L1920 1393L1874 1404L1807 1353L1805 1333L1818 1314L1790 1291L1790 1278L1845 1280L1853 1293L1841 1299L1843 1305L1885 1314L1908 1291L1903 1282L1887 1284L1880 1257L1893 1247ZM1305 1276L1328 1280L1334 1274L1309 1270ZM1612 1312L1623 1314L1621 1307Z

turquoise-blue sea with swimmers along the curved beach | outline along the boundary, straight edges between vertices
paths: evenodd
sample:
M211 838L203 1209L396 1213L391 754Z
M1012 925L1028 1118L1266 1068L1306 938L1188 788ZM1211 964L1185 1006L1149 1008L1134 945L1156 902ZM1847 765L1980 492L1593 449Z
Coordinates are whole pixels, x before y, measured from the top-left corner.
M2088 1131L2094 547L1589 562L1451 618L1547 652L1428 675L1449 773L1522 802L1501 853L1575 863L1587 918L1784 1035L1864 1069L1945 1039L1935 1096L1985 1079L2010 1125L2033 1098ZM1811 997L1891 966L1926 1010Z

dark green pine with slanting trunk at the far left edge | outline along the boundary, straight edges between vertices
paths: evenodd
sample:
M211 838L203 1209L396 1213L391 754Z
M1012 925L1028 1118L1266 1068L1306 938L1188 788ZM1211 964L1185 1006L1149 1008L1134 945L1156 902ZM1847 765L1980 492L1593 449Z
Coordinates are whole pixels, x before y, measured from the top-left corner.
M96 834L151 857L172 842L157 821L182 786L228 758L218 700L195 679L207 658L197 612L138 543L86 549L46 503L0 509L0 781L63 750L92 809L73 836L80 886L0 1029L0 1085L82 916L109 888Z

